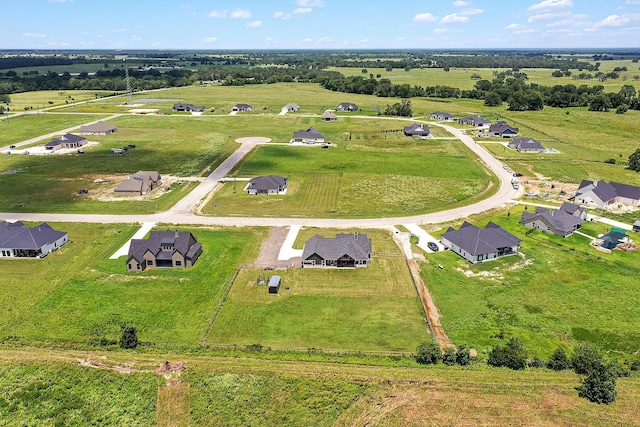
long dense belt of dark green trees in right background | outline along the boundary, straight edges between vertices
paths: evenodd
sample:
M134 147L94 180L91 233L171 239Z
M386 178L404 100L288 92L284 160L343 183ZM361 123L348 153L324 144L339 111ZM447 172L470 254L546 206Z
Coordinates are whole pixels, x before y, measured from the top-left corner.
M484 100L485 105L497 107L508 103L509 110L542 110L550 107L586 107L595 111L608 111L623 107L640 110L640 100L633 85L624 85L618 93L604 93L604 86L555 85L541 86L527 83L525 73L513 70L494 72L494 79L479 80L473 89L464 90L450 86L395 85L389 79L362 76L327 77L320 84L337 92L376 95L380 97L412 98L468 98ZM626 110L624 110L626 111ZM624 112L619 111L619 112Z

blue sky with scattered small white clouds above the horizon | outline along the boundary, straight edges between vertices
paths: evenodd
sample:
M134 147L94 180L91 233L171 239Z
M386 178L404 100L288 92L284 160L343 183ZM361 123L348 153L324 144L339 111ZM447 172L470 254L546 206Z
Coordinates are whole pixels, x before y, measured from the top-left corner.
M20 0L0 10L0 49L640 47L640 0Z

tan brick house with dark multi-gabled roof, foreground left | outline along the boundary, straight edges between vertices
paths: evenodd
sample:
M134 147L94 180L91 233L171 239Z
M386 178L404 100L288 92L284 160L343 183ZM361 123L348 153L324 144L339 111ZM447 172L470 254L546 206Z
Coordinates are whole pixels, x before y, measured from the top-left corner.
M152 231L148 239L131 239L127 271L187 268L202 254L202 244L188 231Z

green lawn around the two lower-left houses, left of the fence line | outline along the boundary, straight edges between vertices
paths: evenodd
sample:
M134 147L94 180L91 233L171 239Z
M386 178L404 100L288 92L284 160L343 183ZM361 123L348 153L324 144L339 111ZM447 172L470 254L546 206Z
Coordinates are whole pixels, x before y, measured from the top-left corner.
M69 232L70 243L60 251L43 260L1 261L3 337L86 344L117 340L120 325L129 323L143 342L195 346L238 263L255 257L263 235L258 229L192 227L203 245L193 268L128 273L126 257L108 258L136 228L54 227Z

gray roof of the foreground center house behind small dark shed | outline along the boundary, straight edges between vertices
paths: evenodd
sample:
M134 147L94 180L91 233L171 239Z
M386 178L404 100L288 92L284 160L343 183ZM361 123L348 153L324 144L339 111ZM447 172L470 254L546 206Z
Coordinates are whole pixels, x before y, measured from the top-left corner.
M368 260L371 258L371 239L361 233L338 233L333 238L316 234L304 244L302 259L306 260L313 254L326 260L337 260L343 255L356 261Z

